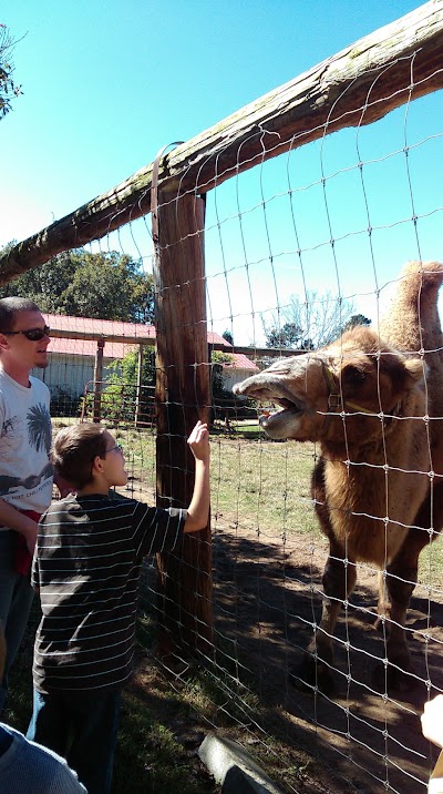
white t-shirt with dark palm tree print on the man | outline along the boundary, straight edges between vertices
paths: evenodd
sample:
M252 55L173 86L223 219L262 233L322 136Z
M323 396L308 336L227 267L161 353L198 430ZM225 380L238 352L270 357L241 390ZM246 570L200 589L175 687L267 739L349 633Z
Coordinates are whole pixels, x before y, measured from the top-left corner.
M0 369L0 499L42 513L52 497L50 394L42 380L29 381Z

